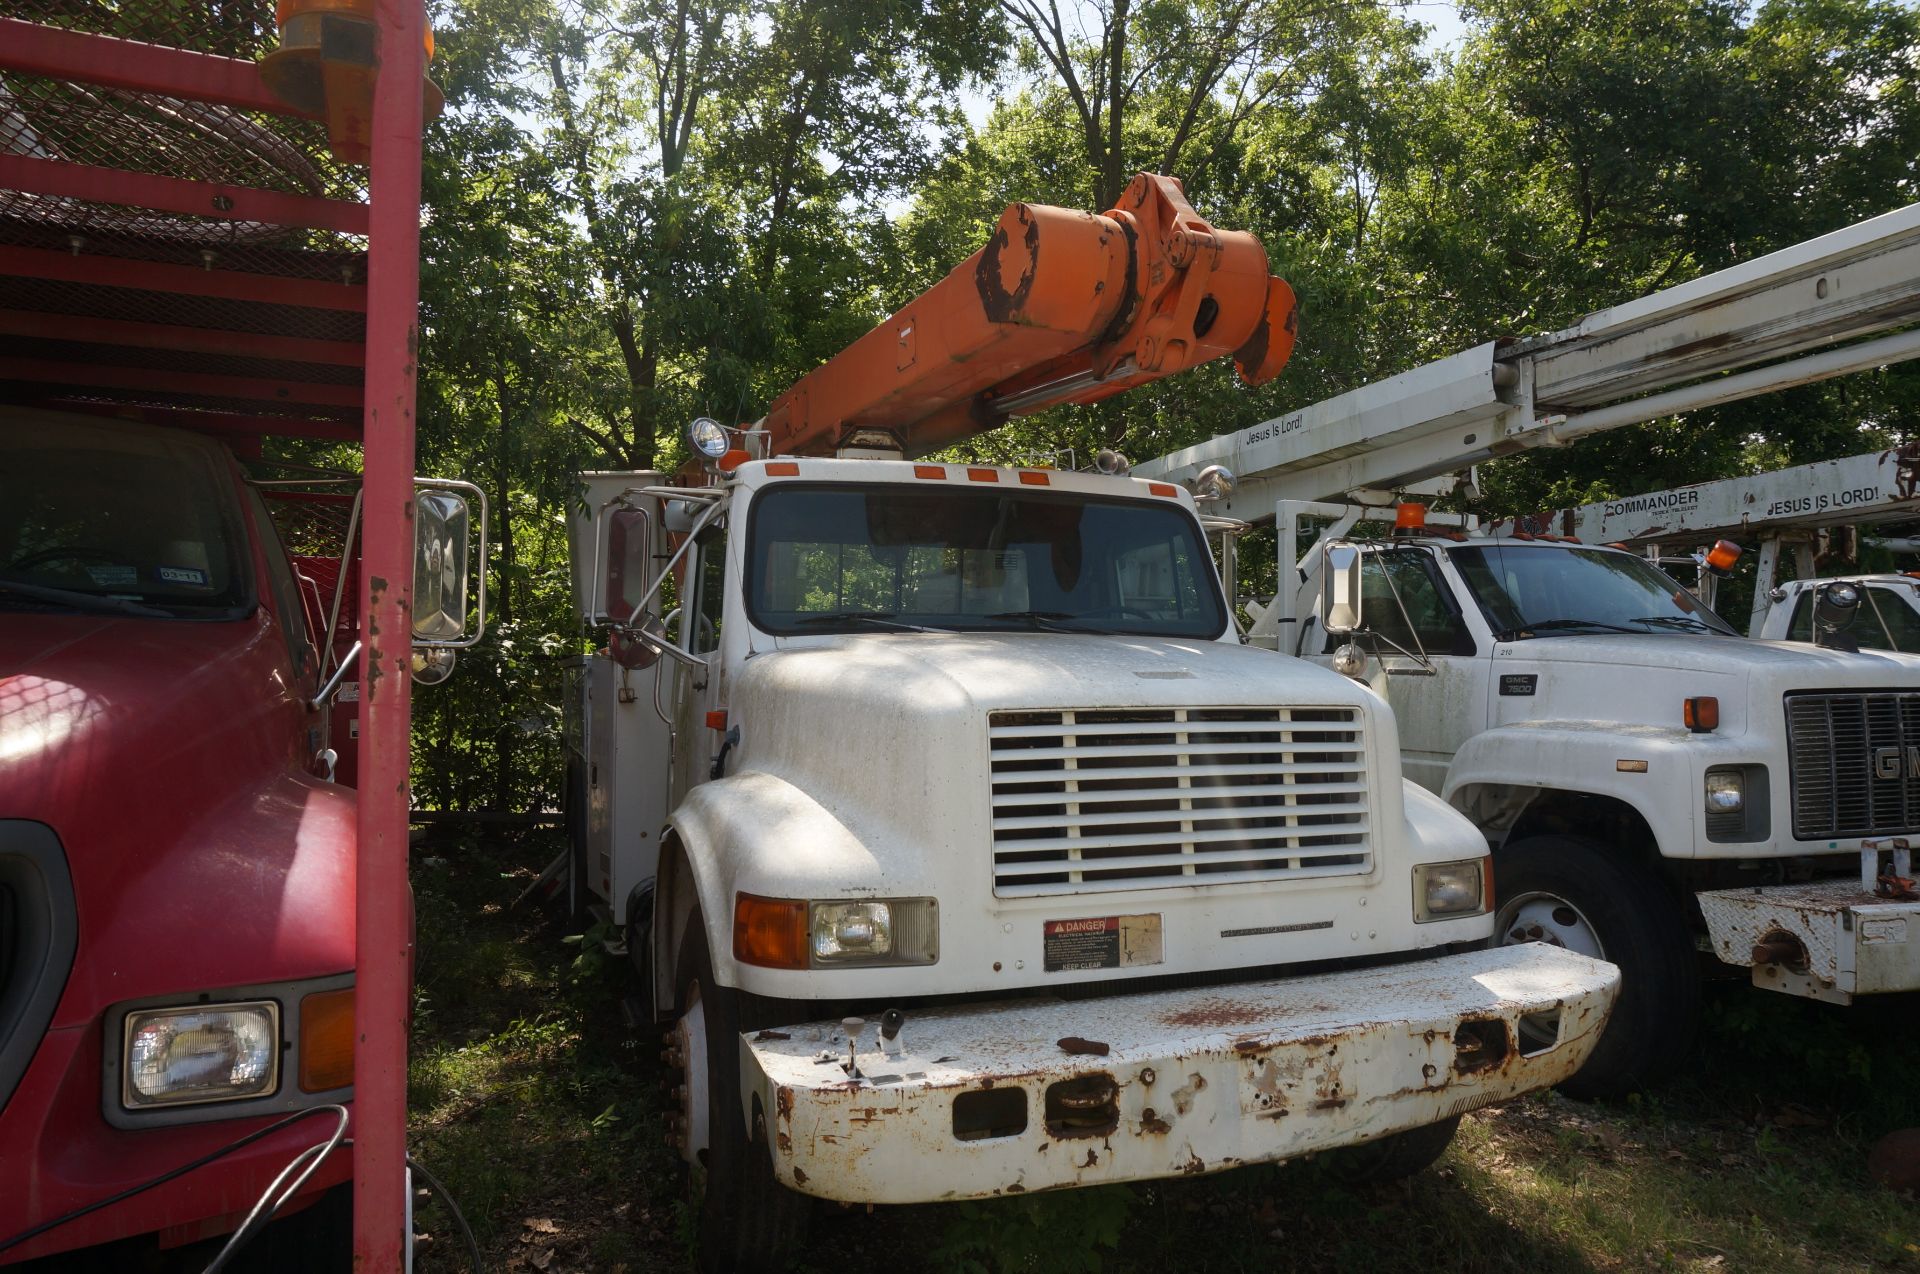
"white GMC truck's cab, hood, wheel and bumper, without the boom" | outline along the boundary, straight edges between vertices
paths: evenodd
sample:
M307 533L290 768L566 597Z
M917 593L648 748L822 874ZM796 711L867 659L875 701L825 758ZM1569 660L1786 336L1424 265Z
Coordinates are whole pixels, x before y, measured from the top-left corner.
M1567 1092L1672 1067L1703 954L1837 1003L1920 988L1920 658L1749 641L1645 558L1553 535L1315 554L1327 589L1279 645L1392 704L1407 777L1494 850L1500 942L1620 967Z

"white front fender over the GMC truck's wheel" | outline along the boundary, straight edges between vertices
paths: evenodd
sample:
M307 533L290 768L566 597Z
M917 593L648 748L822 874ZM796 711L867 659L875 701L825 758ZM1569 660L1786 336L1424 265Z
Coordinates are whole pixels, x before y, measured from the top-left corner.
M1611 721L1501 725L1453 754L1442 798L1482 827L1511 827L1544 792L1605 796L1645 821L1663 858L1692 858L1701 739L1684 727Z

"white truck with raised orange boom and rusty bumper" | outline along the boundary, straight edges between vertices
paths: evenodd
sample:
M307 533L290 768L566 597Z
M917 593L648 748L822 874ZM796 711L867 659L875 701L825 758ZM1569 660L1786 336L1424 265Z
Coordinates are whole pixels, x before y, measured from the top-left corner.
M895 459L943 405L1046 397L979 368L1033 366L1054 336L1094 365L1127 342L1108 366L1137 378L1179 370L1112 336L1125 315L1077 313L1077 338L1035 318L1096 292L1048 278L1075 251L1108 269L1167 242L1173 217L1131 196L1106 217L1010 207L983 255L755 428L695 422L705 482L584 480L578 602L611 639L570 696L574 877L624 934L639 1017L668 1028L707 1268L797 1255L808 1197L1315 1151L1400 1176L1463 1111L1574 1073L1607 1019L1611 965L1488 948L1486 840L1402 781L1384 704L1242 647L1190 491ZM1196 311L1227 295L1206 271L1229 234L1175 211L1192 269L1106 276L1154 280L1129 303L1144 322L1202 288L1181 330L1277 370L1261 342L1284 313ZM1023 280L1012 305L995 272ZM1091 384L1058 361L1044 378Z

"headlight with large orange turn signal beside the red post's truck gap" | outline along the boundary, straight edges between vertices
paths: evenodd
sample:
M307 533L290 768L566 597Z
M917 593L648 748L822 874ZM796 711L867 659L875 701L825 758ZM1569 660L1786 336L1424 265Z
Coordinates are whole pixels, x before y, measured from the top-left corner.
M733 957L762 969L931 965L939 938L933 898L733 898Z

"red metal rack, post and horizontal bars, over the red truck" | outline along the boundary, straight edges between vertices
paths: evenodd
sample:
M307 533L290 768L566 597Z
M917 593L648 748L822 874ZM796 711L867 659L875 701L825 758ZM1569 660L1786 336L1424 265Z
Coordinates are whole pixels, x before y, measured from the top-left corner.
M188 21L188 10L156 0L156 29ZM60 25L65 10L50 13L44 23L0 17L0 69L313 119L275 100L253 61L75 31ZM90 12L73 6L73 13ZM426 13L420 0L376 0L374 21L380 75L365 203L169 177L152 152L144 173L58 150L0 153L0 336L44 345L0 357L0 401L219 432L242 451L263 434L365 441L353 1253L355 1270L390 1272L401 1268L407 1239L409 614ZM165 215L205 221L156 230ZM246 236L192 238L196 224L221 223L242 224ZM276 226L323 234L275 234ZM351 246L313 248L324 232L367 236L365 274ZM196 251L202 246L207 251ZM338 280L328 278L334 272ZM179 359L156 359L156 349ZM227 357L363 368L363 388L234 376L230 365L207 363ZM132 403L106 401L113 397ZM234 401L261 407L236 411ZM342 409L361 409L361 422L342 420Z

